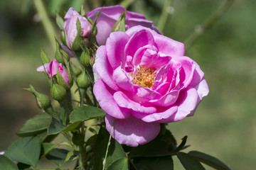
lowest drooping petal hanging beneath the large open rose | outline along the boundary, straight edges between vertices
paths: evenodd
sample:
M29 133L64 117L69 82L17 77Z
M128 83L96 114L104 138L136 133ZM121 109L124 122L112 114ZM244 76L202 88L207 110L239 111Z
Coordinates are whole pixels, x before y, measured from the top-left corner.
M117 142L131 147L137 147L154 140L160 132L160 123L145 123L134 117L114 119L112 116L106 115L105 122L109 132L114 125L111 135Z

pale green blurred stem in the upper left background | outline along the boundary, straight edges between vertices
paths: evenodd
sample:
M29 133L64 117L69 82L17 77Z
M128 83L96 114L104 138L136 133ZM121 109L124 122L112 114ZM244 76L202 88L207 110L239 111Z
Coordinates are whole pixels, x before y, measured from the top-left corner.
M39 16L41 17L41 21L43 23L43 27L46 30L46 35L48 36L50 44L52 45L53 50L55 50L55 29L47 15L46 7L43 5L42 0L34 0L34 4Z

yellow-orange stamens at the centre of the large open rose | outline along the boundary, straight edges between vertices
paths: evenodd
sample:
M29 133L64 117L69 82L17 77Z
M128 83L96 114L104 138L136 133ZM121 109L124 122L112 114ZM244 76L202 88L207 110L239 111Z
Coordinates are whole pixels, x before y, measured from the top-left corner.
M137 69L137 74L132 75L132 84L137 84L141 87L151 88L154 84L156 73L154 68L146 68L139 65Z

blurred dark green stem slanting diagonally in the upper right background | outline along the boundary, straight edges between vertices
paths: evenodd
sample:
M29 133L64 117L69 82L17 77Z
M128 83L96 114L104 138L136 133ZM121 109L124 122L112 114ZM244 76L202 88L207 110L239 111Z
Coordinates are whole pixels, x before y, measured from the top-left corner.
M191 33L191 35L188 36L187 40L185 41L185 47L186 50L188 50L191 45L193 45L193 42L195 42L203 33L208 30L211 26L213 26L213 23L218 21L218 19L225 14L226 11L228 11L228 8L233 4L235 0L226 0L223 2L223 4L220 5L220 7L213 13L209 18L206 19L205 22L201 24L201 26L197 26L197 28Z

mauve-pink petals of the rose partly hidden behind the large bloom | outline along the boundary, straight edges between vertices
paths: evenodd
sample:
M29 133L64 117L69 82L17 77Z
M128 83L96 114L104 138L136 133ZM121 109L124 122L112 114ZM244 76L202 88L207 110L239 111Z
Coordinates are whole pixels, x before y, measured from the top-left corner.
M99 45L105 45L107 38L110 36L112 32L112 28L114 24L117 22L121 14L124 12L125 8L122 6L107 6L107 7L99 7L94 10L86 13L86 15L95 20L97 16L97 11L100 12L99 17L97 18L97 35L96 39ZM140 13L134 13L131 11L127 11L126 13L126 28L131 28L133 26L144 26L146 28L151 28L156 30L157 33L160 33L159 30L153 26L152 21L147 21L145 16Z

